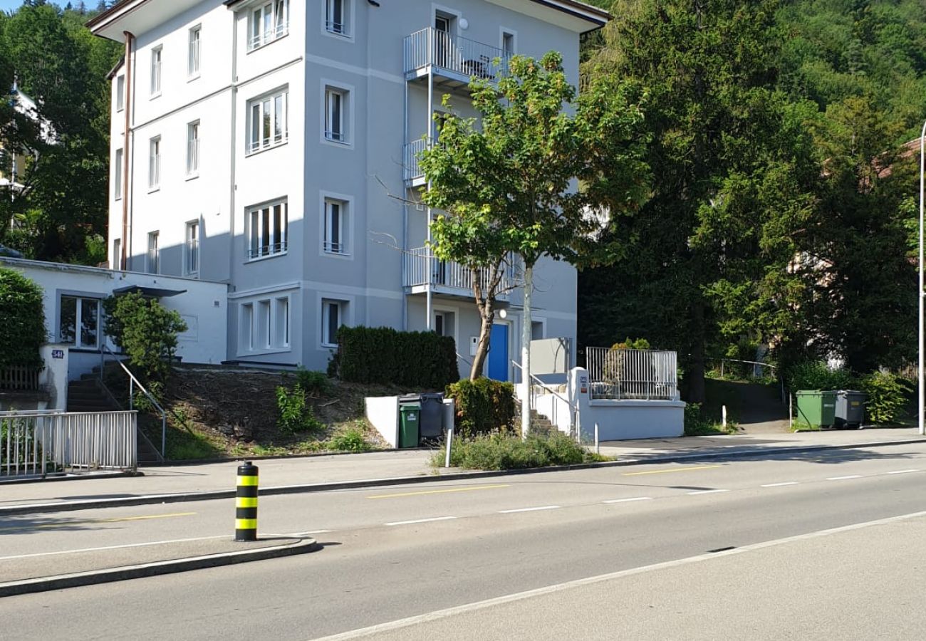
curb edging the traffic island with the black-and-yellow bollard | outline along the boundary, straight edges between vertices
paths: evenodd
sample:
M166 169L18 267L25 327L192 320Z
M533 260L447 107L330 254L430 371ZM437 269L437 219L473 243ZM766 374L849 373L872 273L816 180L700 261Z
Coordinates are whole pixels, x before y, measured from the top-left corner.
M204 568L216 568L222 565L234 565L249 561L263 559L278 559L296 554L306 554L321 549L314 538L304 538L298 543L285 546L261 547L256 550L242 550L240 552L225 552L221 554L208 554L200 557L186 559L171 559L144 563L142 565L127 565L120 568L109 568L91 572L77 572L74 574L61 574L46 576L38 579L27 579L15 583L0 584L0 597L12 597L34 592L47 592L48 590L61 590L81 585L94 585L140 579L158 574L172 574L174 572L189 572Z

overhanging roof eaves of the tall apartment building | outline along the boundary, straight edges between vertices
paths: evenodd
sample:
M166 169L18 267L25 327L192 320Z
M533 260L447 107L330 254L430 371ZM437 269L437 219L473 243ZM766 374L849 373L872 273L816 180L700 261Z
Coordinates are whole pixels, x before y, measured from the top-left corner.
M232 6L243 1L244 0L225 0L224 4L226 6ZM399 0L399 2L396 2L396 5L405 1L406 0ZM600 29L611 19L611 14L604 9L600 9L597 6L586 5L583 2L579 2L579 0L492 1L499 5L515 5L523 6L524 8L528 8L528 6L534 9L546 7L565 13L573 19L588 23L588 28L583 29L582 32ZM94 17L94 19L89 20L87 22L87 27L96 35L109 38L110 40L120 41L122 40L123 29L117 27L116 23L123 18L131 18L131 26L126 24L126 29L129 31L134 30L136 33L142 33L160 24L165 19L169 18L169 15L176 15L182 11L186 11L199 4L199 2L201 2L201 0L125 0L118 5L109 7L106 11ZM379 0L377 6L388 2L394 2L394 0ZM155 8L156 5L157 8ZM166 12L165 9L168 11Z

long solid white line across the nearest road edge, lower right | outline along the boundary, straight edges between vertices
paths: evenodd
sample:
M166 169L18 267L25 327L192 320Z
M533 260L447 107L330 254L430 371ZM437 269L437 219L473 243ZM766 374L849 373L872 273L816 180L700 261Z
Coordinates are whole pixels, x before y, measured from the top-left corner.
M605 581L611 581L613 579L623 578L625 576L633 576L634 574L643 574L645 572L665 570L668 568L688 565L690 563L700 563L702 561L708 561L711 559L722 559L723 557L727 557L732 554L744 554L745 552L751 552L751 551L762 549L765 547L782 546L787 543L794 543L795 541L818 538L820 536L829 536L831 534L841 534L844 532L851 532L853 530L861 530L863 528L871 527L874 525L884 525L886 523L906 521L907 519L915 519L919 517L926 517L926 511L912 512L910 514L902 514L900 516L892 516L886 519L879 519L877 521L854 523L852 525L843 525L841 527L834 527L829 530L820 530L819 532L810 532L807 534L797 534L795 536L787 536L785 538L775 539L772 541L765 541L763 543L755 543L749 546L734 547L732 549L723 550L721 552L708 552L707 554L699 554L694 557L688 557L687 559L676 559L676 560L664 561L662 563L655 563L653 565L644 565L643 567L640 567L640 568L631 568L629 570L620 570L618 572L609 572L607 574L599 574L597 576L590 576L585 579L577 579L575 581L569 581L568 583L548 585L546 587L539 587L533 590L527 590L526 592L518 592L515 594L506 595L504 597L495 597L495 598L486 599L484 601L476 601L475 603L468 603L466 605L457 606L455 608L447 608L446 610L436 610L433 612L429 612L427 614L419 614L418 616L408 617L407 619L399 619L397 621L379 623L377 625L371 625L366 628L359 628L357 630L350 630L348 632L343 632L338 635L322 636L322 637L317 638L316 641L344 641L345 639L356 639L356 638L363 637L363 636L378 635L384 632L390 632L393 630L400 630L402 628L407 628L412 625L417 625L419 623L426 623L426 622L432 622L432 621L439 621L441 619L447 619L449 617L456 616L457 614L463 614L466 612L472 612L476 610L485 610L486 608L492 608L494 606L504 605L506 603L511 603L514 601L521 601L527 598L542 597L548 594L563 592L565 590L569 590L574 587L582 587L583 585L599 584Z

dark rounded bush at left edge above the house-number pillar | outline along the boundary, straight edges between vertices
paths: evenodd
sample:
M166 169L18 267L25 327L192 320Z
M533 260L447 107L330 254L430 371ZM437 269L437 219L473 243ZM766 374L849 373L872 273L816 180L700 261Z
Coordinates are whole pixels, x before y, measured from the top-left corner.
M0 368L42 367L45 313L40 286L14 270L0 268Z

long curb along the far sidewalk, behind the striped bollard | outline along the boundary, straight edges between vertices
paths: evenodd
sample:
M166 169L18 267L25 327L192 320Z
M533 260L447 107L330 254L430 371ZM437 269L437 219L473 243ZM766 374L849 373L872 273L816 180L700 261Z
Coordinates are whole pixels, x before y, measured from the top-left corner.
M301 484L301 485L275 485L260 488L260 496L276 496L283 494L308 494L313 492L329 492L334 490L353 490L362 487L382 487L383 485L410 485L435 483L439 481L462 481L466 479L484 479L497 476L513 476L518 474L537 474L557 471L592 470L596 468L614 468L632 465L649 465L653 463L673 463L689 460L718 460L718 459L748 459L750 457L775 456L778 454L795 454L800 452L816 452L831 449L858 449L862 447L904 446L917 443L926 443L924 438L904 439L897 441L871 441L868 443L853 443L841 445L814 445L794 447L768 447L758 446L752 449L692 452L685 454L667 454L647 459L611 460L601 463L580 463L577 465L560 465L546 468L527 468L523 470L496 470L496 471L459 471L452 474L420 474L418 476L397 476L382 479L360 479L357 481L338 481L332 483ZM748 447L748 446L747 446ZM222 498L233 498L235 490L206 490L204 492L190 492L183 494L151 494L143 496L126 496L119 498L96 498L93 500L68 501L56 503L32 503L28 505L14 505L0 507L0 518L19 514L39 514L46 512L64 512L77 509L125 508L136 505L153 505L157 503L184 503L188 501L209 501Z

